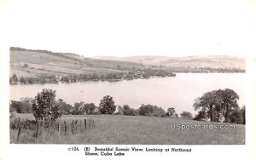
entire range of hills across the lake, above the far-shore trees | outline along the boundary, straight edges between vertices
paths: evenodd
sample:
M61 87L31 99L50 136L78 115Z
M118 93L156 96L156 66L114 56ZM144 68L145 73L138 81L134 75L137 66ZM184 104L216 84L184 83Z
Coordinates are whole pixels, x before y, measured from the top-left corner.
M10 76L67 76L93 73L102 75L128 71L150 72L151 69L154 69L155 74L159 74L157 69L174 72L241 72L245 70L245 60L227 55L90 58L40 49L10 48Z

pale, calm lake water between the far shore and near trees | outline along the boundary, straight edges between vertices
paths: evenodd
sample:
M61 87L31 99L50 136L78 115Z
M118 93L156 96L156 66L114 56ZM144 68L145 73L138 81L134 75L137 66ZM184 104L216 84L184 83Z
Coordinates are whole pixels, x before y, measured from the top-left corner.
M142 104L174 107L177 113L196 112L195 98L213 89L233 89L240 96L239 106L245 105L244 73L177 73L176 77L155 77L119 82L84 82L10 85L10 100L34 98L42 89L56 90L57 98L67 103L84 101L99 105L105 95L113 96L115 105L128 104L139 108Z

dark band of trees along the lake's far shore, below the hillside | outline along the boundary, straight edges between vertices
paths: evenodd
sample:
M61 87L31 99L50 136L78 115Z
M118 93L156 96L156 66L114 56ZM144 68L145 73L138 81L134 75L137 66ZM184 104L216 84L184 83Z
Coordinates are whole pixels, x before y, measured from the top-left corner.
M44 69L42 69L44 70ZM109 73L92 73L92 74L79 74L79 75L40 75L38 77L17 77L13 74L9 77L10 84L16 83L76 83L86 81L115 81L115 80L132 80L137 78L149 78L149 77L174 77L176 76L172 71L166 71L164 69L145 69L135 71L116 71Z

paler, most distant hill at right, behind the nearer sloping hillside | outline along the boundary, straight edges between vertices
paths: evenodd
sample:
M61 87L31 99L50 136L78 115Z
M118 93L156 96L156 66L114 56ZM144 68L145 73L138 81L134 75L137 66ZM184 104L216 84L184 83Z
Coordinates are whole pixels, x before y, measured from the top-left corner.
M236 68L245 70L245 59L231 55L207 55L207 56L184 56L184 57L166 57L166 56L131 56L131 57L111 57L96 56L98 60L121 60L141 63L143 65L161 65L168 67L185 68Z

